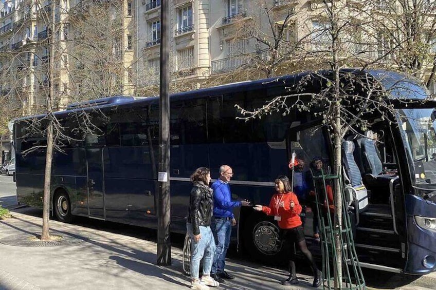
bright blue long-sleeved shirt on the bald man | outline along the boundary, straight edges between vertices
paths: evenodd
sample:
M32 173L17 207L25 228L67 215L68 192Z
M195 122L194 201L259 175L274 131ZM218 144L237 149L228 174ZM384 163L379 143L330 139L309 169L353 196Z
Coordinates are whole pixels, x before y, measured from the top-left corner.
M213 189L213 216L234 219L231 209L235 206L241 206L241 202L231 200L229 184L218 179L211 187Z

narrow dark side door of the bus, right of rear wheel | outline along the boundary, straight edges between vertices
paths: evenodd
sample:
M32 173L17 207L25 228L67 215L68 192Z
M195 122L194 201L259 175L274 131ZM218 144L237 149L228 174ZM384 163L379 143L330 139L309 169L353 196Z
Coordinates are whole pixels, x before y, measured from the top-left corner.
M105 219L103 187L103 149L86 149L88 171L88 215Z

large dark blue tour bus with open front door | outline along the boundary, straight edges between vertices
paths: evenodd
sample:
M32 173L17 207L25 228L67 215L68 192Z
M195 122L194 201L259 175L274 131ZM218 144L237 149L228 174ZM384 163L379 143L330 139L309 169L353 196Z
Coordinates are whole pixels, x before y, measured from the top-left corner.
M394 102L425 99L428 93L401 74L380 70L365 73L389 93L384 98L392 100L396 122L382 118L383 109L374 110L365 117L371 126L350 131L342 142L344 186L349 192L350 211L355 212L358 259L363 267L423 275L436 265L436 160L429 156L429 148L436 145L435 105ZM186 231L192 188L189 178L197 167L210 168L216 179L219 167L230 165L234 172L232 198L264 205L274 194L276 177L290 175L292 152L300 162L294 185L304 182L305 172L316 157L323 161L326 172L331 170L331 134L316 109L307 112L296 107L286 114L271 113L248 122L235 119L241 117L235 105L246 110L262 107L275 96L289 95L289 88L308 74L171 95L173 232ZM317 93L322 87L322 82L314 83L306 92ZM158 102L157 97L112 96L71 104L55 113L63 133L72 139L62 142L62 150L53 153L53 216L65 222L83 216L157 227ZM83 112L90 115L87 123L81 119ZM42 118L16 119L13 127L17 199L38 207L42 206L46 140L31 130L30 124L37 119L43 124ZM86 130L90 127L97 129ZM301 203L305 205L305 234L314 249L318 243L312 238L314 210L310 203ZM283 258L274 218L251 207L235 208L234 214L238 225L232 231L232 241L239 249L265 261Z

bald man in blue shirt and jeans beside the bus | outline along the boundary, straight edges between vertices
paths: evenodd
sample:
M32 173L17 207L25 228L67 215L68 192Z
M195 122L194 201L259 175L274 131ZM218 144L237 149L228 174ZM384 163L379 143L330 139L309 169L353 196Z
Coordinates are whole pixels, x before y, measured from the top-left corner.
M234 279L233 275L224 270L227 249L230 244L231 227L236 225L232 208L250 205L245 200L231 200L229 181L232 176L232 168L228 165L222 165L219 179L212 184L213 219L210 227L215 238L216 251L213 257L211 276L220 283L224 282L223 279Z

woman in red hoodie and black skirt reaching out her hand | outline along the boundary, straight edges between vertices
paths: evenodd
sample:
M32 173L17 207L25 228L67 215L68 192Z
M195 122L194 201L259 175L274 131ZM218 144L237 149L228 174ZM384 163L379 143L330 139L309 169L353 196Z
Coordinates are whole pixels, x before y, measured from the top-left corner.
M308 250L304 237L304 230L300 219L301 205L298 202L297 196L292 192L289 184L289 179L286 176L279 176L276 181L277 193L272 196L269 206L255 205L255 210L263 211L268 216L274 216L279 227L283 230L283 238L289 242L291 246L289 253L289 278L281 281L282 285L298 284L297 275L295 274L294 262L294 243L298 245L301 252L306 256L311 263L314 272L314 287L321 285L321 272L318 270L312 253Z

